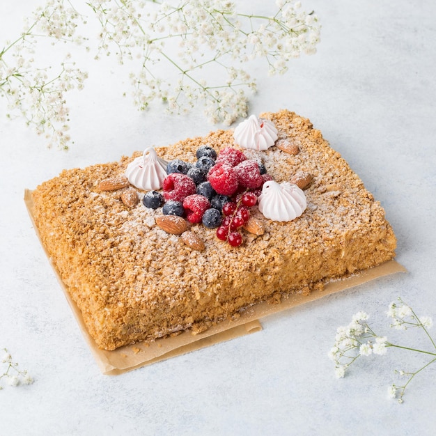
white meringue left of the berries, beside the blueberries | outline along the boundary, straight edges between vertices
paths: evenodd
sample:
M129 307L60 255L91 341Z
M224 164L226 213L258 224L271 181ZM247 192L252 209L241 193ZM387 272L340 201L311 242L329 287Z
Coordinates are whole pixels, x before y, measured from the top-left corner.
M146 148L141 157L133 159L125 170L129 182L143 191L161 189L166 178L166 160L157 156L153 147Z

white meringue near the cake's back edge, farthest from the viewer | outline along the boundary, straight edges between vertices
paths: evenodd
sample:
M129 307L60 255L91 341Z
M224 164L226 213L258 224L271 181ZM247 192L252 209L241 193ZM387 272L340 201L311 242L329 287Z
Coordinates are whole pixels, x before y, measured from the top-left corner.
M277 141L277 128L270 120L251 115L235 128L236 143L242 148L267 150Z

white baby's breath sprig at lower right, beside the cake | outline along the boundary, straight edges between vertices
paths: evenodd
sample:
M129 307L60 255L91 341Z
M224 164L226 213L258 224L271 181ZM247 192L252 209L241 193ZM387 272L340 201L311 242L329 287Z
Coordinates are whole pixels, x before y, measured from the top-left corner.
M405 389L415 375L421 373L423 369L436 361L436 344L428 333L428 329L433 326L433 320L429 316L416 316L413 309L405 304L401 298L398 298L398 302L389 304L387 316L391 318L390 327L394 329L407 330L414 327L422 329L430 340L432 346L431 351L389 342L386 336L375 334L373 329L368 325L368 314L361 311L352 317L352 321L349 325L338 327L334 347L329 352L329 358L334 361L337 377L344 377L345 371L359 357L384 355L389 347L410 350L430 356L430 361L414 372L403 370L395 371L396 374L407 377L407 380L402 385L391 384L388 388L388 395L390 398L397 398L399 403L403 403Z

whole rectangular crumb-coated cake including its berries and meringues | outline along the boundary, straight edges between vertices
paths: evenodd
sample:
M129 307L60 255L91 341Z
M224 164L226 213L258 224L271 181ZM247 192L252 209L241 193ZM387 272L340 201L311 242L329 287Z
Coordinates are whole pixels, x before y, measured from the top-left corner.
M99 348L193 334L394 258L384 210L309 120L250 116L33 191L43 246Z

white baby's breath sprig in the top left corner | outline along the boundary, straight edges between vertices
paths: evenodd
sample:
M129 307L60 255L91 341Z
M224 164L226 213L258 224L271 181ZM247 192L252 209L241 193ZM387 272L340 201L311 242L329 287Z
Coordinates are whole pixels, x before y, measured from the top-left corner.
M7 102L8 118L22 116L38 134L46 135L49 146L65 149L70 142L65 93L83 88L87 73L75 66L68 53L60 55L59 63L38 55L57 54L52 45L59 42L83 42L85 38L75 36L79 18L69 2L49 0L26 19L24 31L0 50L0 97Z

